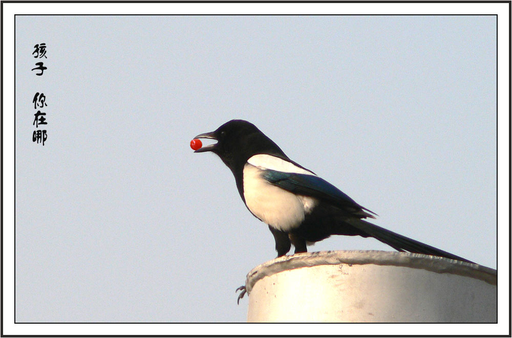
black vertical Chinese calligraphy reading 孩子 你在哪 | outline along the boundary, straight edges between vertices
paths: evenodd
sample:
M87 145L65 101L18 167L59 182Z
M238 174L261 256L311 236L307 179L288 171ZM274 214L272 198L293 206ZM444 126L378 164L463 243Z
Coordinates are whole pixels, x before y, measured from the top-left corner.
M32 55L34 58L45 58L46 56L46 43L38 43L34 46L34 52ZM37 76L42 76L42 74L45 72L45 70L48 69L48 67L44 66L43 62L36 62L35 64L37 67L33 68L32 71L40 71L39 73L36 73ZM46 140L48 139L48 134L46 129L39 129L41 126L48 125L48 122L46 122L46 112L41 111L44 109L48 104L46 103L46 96L44 93L35 93L34 98L32 99L32 103L34 104L34 110L37 110L37 112L34 114L34 120L32 122L32 125L35 126L36 130L32 132L32 142L36 142L37 144L41 143L42 145L45 145Z

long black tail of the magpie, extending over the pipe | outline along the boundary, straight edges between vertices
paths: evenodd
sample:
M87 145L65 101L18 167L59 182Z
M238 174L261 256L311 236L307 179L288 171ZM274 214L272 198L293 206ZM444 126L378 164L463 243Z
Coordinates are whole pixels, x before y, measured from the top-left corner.
M411 253L416 254L440 256L463 262L474 263L465 258L437 249L434 246L421 243L412 238L402 236L395 232L381 228L379 226L376 226L375 224L372 224L362 219L346 220L346 222L349 223L352 227L359 229L362 232L365 232L366 234L370 235L371 237L374 237L375 239L378 239L382 243L388 244L397 251L409 251Z

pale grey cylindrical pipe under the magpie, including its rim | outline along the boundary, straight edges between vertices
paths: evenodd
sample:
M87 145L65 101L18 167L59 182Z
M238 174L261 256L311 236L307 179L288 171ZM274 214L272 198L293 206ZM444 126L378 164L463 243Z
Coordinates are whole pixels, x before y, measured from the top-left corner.
M496 323L497 271L401 252L284 256L247 275L248 322Z

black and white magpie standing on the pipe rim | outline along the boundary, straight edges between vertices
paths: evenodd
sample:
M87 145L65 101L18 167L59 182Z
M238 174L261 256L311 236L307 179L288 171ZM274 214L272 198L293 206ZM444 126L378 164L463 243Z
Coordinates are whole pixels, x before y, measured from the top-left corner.
M400 252L473 263L364 220L378 215L290 160L252 123L231 120L195 139L217 141L195 152L211 151L231 170L247 209L268 225L278 257L286 255L291 244L295 253L302 253L308 244L347 235L373 237Z

